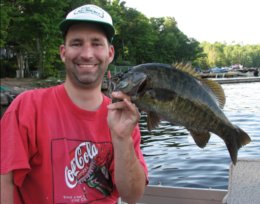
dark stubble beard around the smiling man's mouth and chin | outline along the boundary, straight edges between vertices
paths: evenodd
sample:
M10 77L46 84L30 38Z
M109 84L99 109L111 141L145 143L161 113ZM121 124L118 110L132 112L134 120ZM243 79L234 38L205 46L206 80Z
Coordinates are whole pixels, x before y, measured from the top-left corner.
M85 61L86 62L86 61ZM67 77L69 77L71 83L79 89L94 89L102 83L103 76L108 68L108 60L105 60L102 66L101 61L95 62L98 64L98 69L95 72L82 71L79 72L77 65L79 62L70 62L65 59L65 66L67 71Z

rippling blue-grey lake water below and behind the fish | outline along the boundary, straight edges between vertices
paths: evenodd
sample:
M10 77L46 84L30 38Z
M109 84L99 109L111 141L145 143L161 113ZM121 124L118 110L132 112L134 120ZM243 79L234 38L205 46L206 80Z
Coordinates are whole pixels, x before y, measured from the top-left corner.
M222 85L224 113L244 130L251 142L238 151L238 158L260 157L260 83ZM231 158L224 141L212 134L199 148L184 127L163 121L148 133L146 113L141 112L141 149L148 167L149 185L228 189Z

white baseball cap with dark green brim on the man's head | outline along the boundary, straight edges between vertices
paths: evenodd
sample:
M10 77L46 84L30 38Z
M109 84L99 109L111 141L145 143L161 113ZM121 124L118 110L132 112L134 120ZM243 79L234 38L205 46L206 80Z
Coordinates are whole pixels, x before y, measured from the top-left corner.
M62 38L64 39L68 29L74 23L82 21L93 22L101 26L105 30L109 42L112 42L115 35L115 28L113 26L112 18L106 11L95 5L85 5L71 11L67 15L66 20L63 20L59 24Z

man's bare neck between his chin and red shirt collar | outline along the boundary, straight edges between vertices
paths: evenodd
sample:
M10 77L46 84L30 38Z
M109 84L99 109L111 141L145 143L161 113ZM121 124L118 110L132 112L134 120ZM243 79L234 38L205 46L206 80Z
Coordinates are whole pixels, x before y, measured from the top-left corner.
M72 102L83 110L96 111L103 102L101 85L94 89L79 89L70 80L66 80L64 88Z

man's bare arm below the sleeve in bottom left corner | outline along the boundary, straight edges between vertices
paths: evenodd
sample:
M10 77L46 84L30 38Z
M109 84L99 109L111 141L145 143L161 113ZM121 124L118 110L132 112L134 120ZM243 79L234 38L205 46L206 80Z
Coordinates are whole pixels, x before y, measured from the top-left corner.
M7 174L1 174L1 203L14 203L13 171Z

